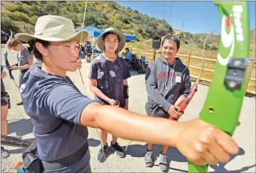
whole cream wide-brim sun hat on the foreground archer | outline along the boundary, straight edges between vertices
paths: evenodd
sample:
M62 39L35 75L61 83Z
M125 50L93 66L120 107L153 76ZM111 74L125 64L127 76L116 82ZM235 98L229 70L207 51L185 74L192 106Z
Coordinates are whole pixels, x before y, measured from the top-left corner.
M87 30L80 30L76 33L72 20L55 16L44 15L37 19L35 34L17 33L17 39L31 41L41 39L44 41L84 41L88 37Z

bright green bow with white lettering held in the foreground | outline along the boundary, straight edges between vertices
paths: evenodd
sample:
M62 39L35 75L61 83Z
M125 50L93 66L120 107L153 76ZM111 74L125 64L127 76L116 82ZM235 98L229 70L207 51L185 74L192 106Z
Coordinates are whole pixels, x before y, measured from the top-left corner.
M232 136L239 120L247 85L248 2L216 1L214 3L219 9L222 20L219 52L212 83L199 117ZM208 164L199 166L188 161L188 172L207 172L207 169Z

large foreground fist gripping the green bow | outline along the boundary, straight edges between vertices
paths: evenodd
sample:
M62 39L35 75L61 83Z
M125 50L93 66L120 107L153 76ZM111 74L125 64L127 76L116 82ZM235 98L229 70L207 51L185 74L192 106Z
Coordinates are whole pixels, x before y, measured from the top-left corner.
M218 164L229 161L229 154L239 152L236 142L225 132L200 118L184 122L176 147L195 164Z

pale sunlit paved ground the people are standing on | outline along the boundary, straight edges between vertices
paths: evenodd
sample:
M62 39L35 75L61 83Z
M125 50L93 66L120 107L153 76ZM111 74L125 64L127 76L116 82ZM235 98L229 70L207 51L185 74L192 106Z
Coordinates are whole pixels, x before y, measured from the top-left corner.
M15 63L15 52L9 52L10 63ZM4 64L3 49L1 49L1 63ZM89 91L88 84L88 68L89 64L82 65L81 74L84 79L85 89L81 82L79 71L68 73L68 76L75 82L81 92L93 98L92 92ZM14 71L15 81L18 81L18 71ZM143 74L137 75L132 71L132 77L129 81L130 102L129 110L136 113L145 114L145 76ZM32 125L29 117L25 114L23 106L17 106L16 103L20 101L20 94L13 81L8 77L4 79L4 84L11 96L12 108L9 110L8 116L8 132L11 135L22 135L23 139L33 141ZM185 115L180 118L180 121L188 121L198 117L199 112L204 104L209 87L199 85L199 91L196 92L193 100L185 111ZM220 98L221 99L221 98ZM228 103L227 103L228 104ZM225 115L223 115L225 116ZM241 126L236 129L233 138L239 144L239 154L231 157L231 161L227 164L219 164L218 166L210 166L209 172L256 172L255 169L255 99L251 97L244 97L244 104L240 115ZM91 152L91 166L92 172L161 172L159 169L159 153L161 148L159 145L154 145L154 153L157 157L155 166L146 168L143 160L145 154L145 142L132 142L127 149L126 158L117 158L113 153L108 154L108 166L105 163L97 162L97 152L100 148L99 138L95 129L89 128L89 149ZM111 142L111 135L108 135L108 143ZM119 144L127 146L129 141L119 140ZM6 159L1 159L1 172L11 172L12 166L18 161L21 161L21 154L23 148L7 147L10 150L11 156ZM187 162L183 155L175 148L169 148L168 152L169 172L187 172Z

